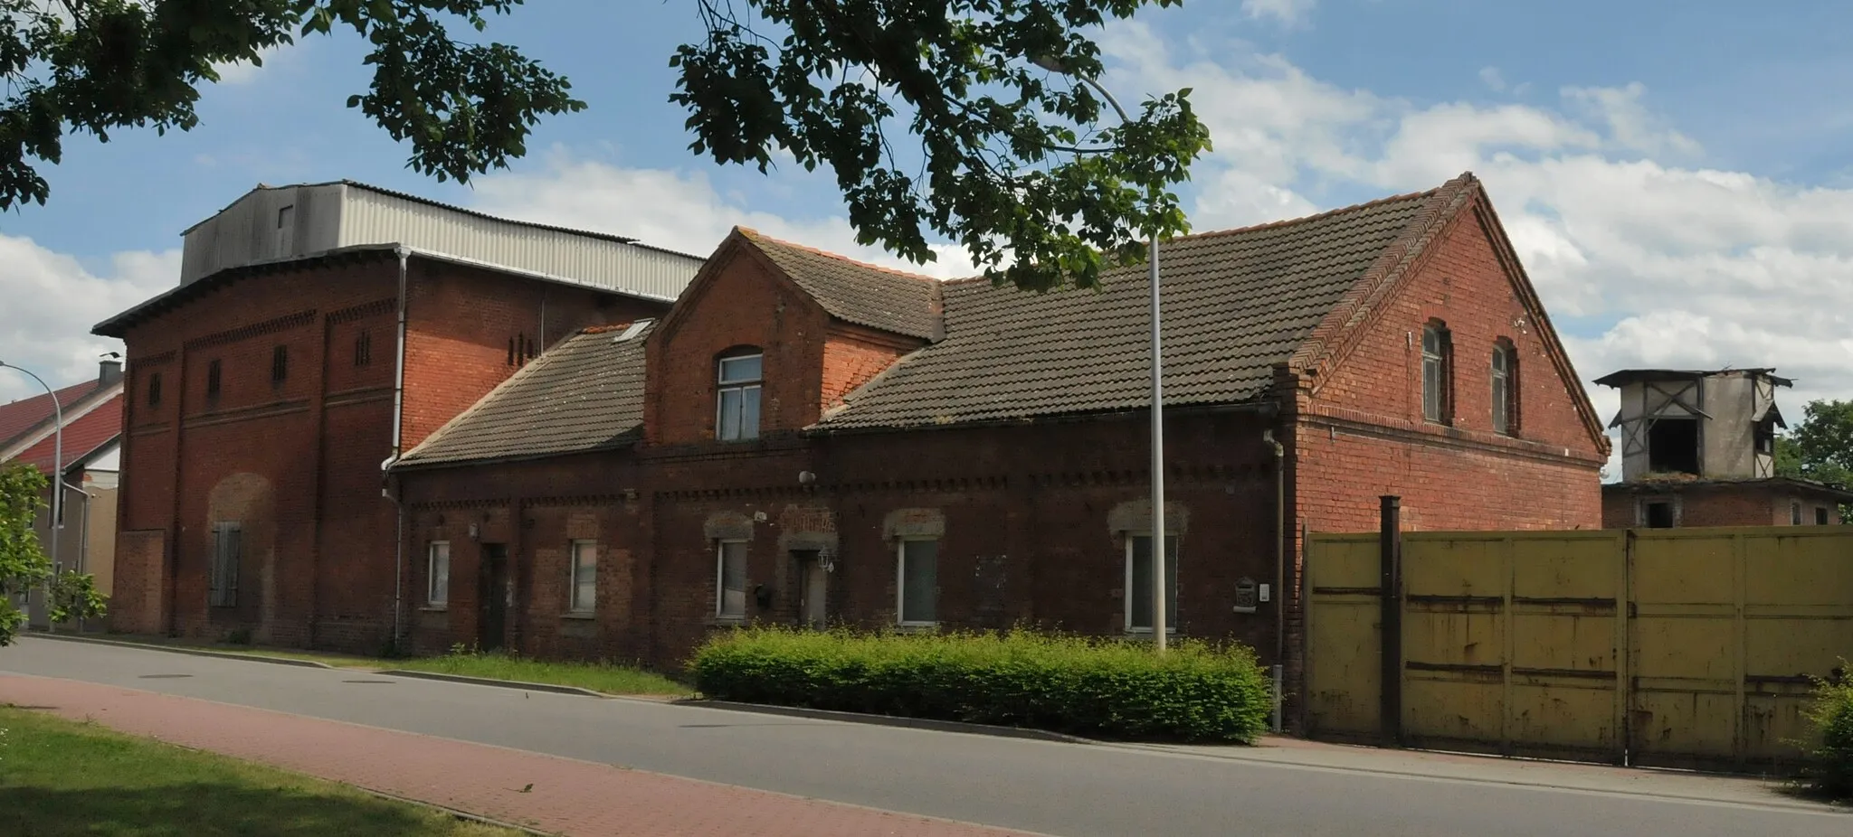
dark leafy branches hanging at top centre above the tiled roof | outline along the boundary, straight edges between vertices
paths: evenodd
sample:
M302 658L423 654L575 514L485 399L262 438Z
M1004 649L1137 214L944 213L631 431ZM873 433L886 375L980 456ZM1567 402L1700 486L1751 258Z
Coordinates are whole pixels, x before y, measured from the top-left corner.
M860 244L925 263L930 230L993 281L1047 291L1095 287L1145 237L1190 231L1169 191L1210 148L1190 89L1103 128L1119 106L1091 81L1086 31L1180 0L697 2L706 41L671 59L689 148L828 167Z

